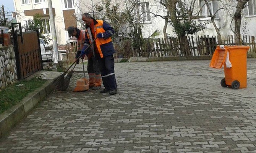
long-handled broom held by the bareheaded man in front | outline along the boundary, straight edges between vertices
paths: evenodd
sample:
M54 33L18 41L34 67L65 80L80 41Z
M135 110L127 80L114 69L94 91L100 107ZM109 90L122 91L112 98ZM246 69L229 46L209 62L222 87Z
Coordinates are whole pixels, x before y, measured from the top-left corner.
M94 43L94 41L97 39L97 37L90 43L90 45L84 50L86 51L91 47L91 45ZM68 88L68 85L70 83L70 78L73 75L74 69L76 67L76 61L81 57L81 55L73 62L73 64L60 76L55 78L52 83L52 88L55 90L65 91ZM68 72L68 70L75 64L73 69ZM65 77L66 73L68 72L68 75Z

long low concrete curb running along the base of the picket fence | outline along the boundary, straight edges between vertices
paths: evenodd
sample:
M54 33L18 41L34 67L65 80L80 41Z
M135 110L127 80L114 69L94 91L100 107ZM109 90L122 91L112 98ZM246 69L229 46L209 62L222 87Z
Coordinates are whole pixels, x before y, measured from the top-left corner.
M248 54L248 58L256 58L256 54ZM202 56L168 56L168 57L131 57L115 59L116 63L119 62L153 62L153 61L185 61L185 60L211 60L212 55Z

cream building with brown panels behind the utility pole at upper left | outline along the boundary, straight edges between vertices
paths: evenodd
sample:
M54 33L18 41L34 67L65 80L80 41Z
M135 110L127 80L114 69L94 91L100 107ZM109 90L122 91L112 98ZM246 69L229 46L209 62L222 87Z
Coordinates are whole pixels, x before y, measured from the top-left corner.
M13 0L17 13L17 22L28 26L35 14L41 14L43 33L51 38L51 22L47 0ZM66 29L69 26L77 26L75 18L78 12L77 0L52 0L53 16L57 33L58 45L65 44L68 38ZM52 42L50 42L52 43Z

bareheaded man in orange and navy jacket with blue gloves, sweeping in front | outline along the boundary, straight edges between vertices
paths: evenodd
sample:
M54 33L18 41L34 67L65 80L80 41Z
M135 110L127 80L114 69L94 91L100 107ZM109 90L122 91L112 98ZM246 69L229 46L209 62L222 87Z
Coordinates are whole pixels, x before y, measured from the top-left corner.
M82 20L86 24L86 37L81 55L88 53L88 51L85 51L86 46L89 46L97 38L92 44L92 54L99 60L100 73L105 87L100 93L109 92L110 95L116 94L117 81L115 79L115 62L113 57L115 49L111 39L115 31L107 22L96 20L89 13L84 13Z

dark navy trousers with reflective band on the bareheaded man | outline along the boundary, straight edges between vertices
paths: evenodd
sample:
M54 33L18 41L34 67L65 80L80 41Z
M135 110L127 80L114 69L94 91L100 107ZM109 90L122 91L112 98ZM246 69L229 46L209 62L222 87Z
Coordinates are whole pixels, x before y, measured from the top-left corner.
M103 85L106 89L117 89L117 81L115 80L115 61L113 54L99 59L100 72Z

